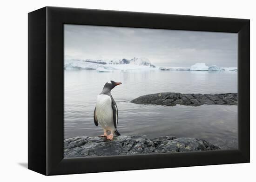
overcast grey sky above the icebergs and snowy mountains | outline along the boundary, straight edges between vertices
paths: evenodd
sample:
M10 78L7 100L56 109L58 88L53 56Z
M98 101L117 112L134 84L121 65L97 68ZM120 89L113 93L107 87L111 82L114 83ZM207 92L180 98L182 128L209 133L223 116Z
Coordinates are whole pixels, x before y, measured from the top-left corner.
M237 34L65 25L65 59L146 57L156 66L237 67Z

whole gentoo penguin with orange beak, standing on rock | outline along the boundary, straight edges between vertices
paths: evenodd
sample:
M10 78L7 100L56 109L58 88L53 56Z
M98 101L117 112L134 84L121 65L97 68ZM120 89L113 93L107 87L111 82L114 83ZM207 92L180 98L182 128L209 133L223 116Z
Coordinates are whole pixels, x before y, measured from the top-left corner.
M101 94L97 96L96 107L94 109L94 124L98 126L100 123L104 130L104 135L101 135L101 137L107 137L109 140L113 140L114 133L121 135L116 129L118 123L117 106L110 93L115 86L120 84L121 82L107 82ZM108 132L110 132L109 135Z

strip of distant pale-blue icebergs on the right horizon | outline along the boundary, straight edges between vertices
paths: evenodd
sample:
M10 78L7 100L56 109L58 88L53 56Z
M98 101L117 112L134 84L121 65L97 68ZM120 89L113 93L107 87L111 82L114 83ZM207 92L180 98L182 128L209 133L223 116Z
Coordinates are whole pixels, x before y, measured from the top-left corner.
M187 67L160 67L160 70L169 71L169 70L179 70L179 71L237 71L236 67L229 68L220 68L216 65L206 66L205 63L195 63L194 65Z

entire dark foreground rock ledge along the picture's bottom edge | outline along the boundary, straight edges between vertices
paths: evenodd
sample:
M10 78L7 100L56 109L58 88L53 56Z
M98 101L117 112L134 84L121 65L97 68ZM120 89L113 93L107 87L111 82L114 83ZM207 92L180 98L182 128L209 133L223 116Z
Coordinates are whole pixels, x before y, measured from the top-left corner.
M213 151L216 145L198 138L145 135L116 136L113 141L100 137L73 137L64 140L64 157L116 156L166 152Z

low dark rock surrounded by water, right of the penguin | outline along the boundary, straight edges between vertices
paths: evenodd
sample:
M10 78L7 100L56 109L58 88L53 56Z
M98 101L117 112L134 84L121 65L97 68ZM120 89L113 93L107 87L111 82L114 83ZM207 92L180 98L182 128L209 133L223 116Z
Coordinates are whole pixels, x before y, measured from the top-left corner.
M154 104L163 106L200 106L203 104L217 105L237 105L237 93L228 94L181 94L163 92L158 94L148 94L131 100L135 104Z

